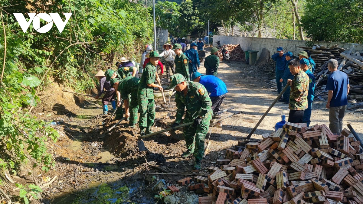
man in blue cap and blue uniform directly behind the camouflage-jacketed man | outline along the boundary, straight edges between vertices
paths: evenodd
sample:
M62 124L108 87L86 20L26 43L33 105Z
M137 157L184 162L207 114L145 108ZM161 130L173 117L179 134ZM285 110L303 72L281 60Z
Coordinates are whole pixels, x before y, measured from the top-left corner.
M304 116L302 118L303 123L306 123L306 126L309 127L311 122L310 121L311 106L313 105L313 100L314 100L315 77L314 74L309 69L310 62L308 59L302 58L300 60L300 65L301 69L309 77L309 91L307 93L307 109L304 111Z

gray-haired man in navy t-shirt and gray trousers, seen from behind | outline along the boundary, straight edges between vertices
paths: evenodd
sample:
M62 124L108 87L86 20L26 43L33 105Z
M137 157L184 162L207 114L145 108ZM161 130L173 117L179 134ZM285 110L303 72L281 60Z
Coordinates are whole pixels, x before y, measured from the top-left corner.
M340 133L343 129L343 118L348 105L349 78L346 73L338 70L338 61L328 61L328 69L331 74L326 82L328 101L325 107L329 109L329 129L334 133Z

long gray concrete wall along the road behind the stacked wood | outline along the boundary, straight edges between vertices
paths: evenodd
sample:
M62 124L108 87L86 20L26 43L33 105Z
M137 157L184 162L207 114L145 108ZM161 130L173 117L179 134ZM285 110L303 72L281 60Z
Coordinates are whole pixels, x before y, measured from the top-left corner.
M257 37L240 37L240 36L213 36L213 46L217 46L217 41L221 41L221 44L240 44L243 50L257 50L257 57L260 56L260 52L262 48L266 48L270 50L270 53L276 53L276 48L278 46L282 46L284 51L290 51L294 55L297 55L303 49L298 48L297 46L305 46L305 43L308 41L302 40L284 40L284 39L276 39L276 38L257 38ZM351 45L355 45L356 50L363 50L363 44L355 44L355 43L344 43L344 42L315 42L318 45L324 45L327 48L333 46L335 44L339 45L342 48L349 48Z

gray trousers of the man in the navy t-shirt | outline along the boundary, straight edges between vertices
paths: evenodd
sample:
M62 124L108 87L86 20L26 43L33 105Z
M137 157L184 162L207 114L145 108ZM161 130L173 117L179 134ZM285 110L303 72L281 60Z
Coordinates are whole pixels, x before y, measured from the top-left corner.
M330 107L329 128L333 133L340 133L343 130L343 118L347 106Z

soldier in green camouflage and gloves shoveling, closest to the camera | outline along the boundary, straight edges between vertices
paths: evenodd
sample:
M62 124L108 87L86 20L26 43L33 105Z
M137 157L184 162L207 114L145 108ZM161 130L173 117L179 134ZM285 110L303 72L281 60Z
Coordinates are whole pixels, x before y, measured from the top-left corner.
M172 127L178 126L187 108L183 123L194 121L191 126L184 127L183 136L187 143L187 151L181 157L186 158L193 154L195 157L194 169L200 170L200 161L204 155L204 139L209 130L212 119L212 102L208 92L198 82L187 81L181 74L170 77L170 87L175 86L176 119Z

